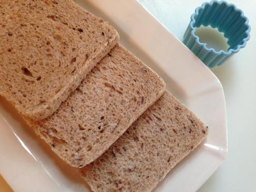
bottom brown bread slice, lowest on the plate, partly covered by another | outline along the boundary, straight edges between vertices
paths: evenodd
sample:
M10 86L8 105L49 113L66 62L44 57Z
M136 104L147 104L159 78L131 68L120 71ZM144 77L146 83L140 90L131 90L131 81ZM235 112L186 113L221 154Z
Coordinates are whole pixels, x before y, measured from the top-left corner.
M81 174L94 192L149 192L206 134L206 126L166 91Z

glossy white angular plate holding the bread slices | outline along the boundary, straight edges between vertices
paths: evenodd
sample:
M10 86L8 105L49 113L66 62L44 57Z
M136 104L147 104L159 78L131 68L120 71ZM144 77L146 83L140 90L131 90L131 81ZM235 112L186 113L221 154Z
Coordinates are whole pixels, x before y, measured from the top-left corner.
M77 1L107 19L121 43L153 68L167 89L208 126L209 136L154 191L196 191L225 159L226 108L218 78L137 1ZM17 192L90 191L39 139L16 110L0 98L0 173Z

